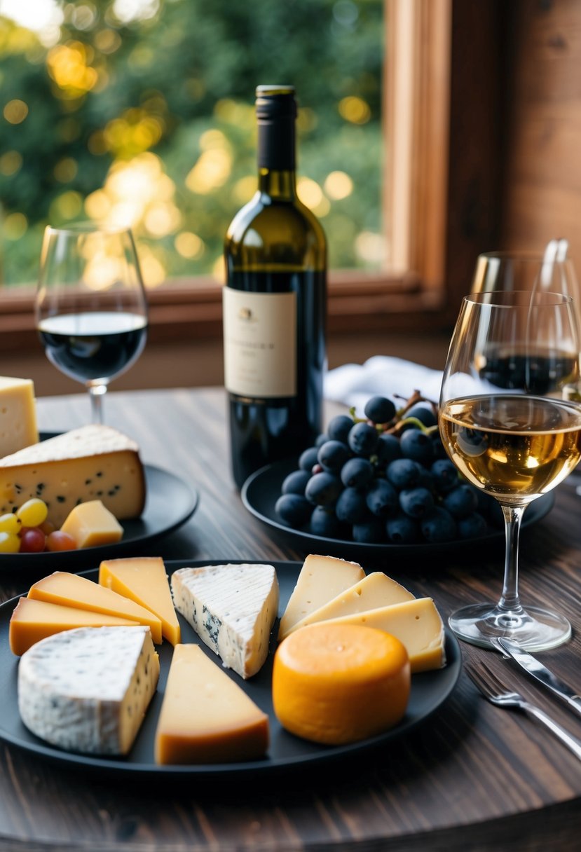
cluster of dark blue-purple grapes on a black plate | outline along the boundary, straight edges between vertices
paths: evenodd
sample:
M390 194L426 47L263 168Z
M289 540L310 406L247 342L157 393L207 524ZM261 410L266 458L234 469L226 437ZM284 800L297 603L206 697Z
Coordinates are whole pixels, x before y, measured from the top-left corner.
M502 527L497 501L447 457L433 403L416 392L398 409L374 396L364 413L333 417L302 452L275 505L281 521L365 544L439 543Z

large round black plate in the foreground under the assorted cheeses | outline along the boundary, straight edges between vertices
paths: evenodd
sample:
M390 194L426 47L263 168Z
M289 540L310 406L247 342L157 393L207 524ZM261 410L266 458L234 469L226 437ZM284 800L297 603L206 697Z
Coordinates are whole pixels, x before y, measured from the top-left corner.
M177 568L181 567L219 565L227 561L239 562L240 560L167 561L165 566L167 572L171 574ZM281 614L295 587L298 573L302 568L302 562L271 562L269 564L275 567L279 578L279 614ZM98 580L99 572L95 569L84 572L83 576L96 581ZM233 671L228 669L222 670L226 671L227 675L232 677L244 689L244 692L250 695L250 698L268 714L271 742L267 757L262 760L247 761L244 763L158 766L156 763L153 763L153 742L173 653L171 645L168 642L164 642L157 647L161 664L158 691L152 699L145 722L137 736L137 740L135 740L135 745L129 757L117 759L90 757L71 751L62 751L55 748L55 746L49 746L43 740L39 740L34 734L31 734L22 722L20 722L16 687L18 658L14 657L14 654L9 648L9 620L17 600L17 598L13 598L0 606L0 694L3 696L3 711L0 714L0 739L13 746L18 746L25 751L29 751L38 757L68 764L69 766L83 769L83 771L95 770L95 772L105 773L107 779L112 779L115 775L120 776L122 779L127 775L139 776L140 778L147 778L147 776L151 775L152 778L157 779L165 776L175 776L176 778L195 777L199 779L214 777L216 780L247 776L250 780L256 774L264 775L293 768L308 770L309 767L318 766L321 763L331 762L342 757L357 757L371 753L377 750L379 746L384 746L392 740L400 739L400 737L411 731L412 728L415 728L421 722L425 722L451 694L452 689L456 686L462 666L462 658L457 640L452 635L452 632L446 628L446 666L438 671L424 671L411 677L410 700L406 716L400 724L391 728L385 734L380 734L369 740L363 740L362 742L353 743L348 746L319 746L308 742L308 740L301 740L292 734L288 734L281 728L274 716L271 698L271 677L275 645L275 639L273 638L267 662L262 666L261 671L256 676L250 678L249 681L243 681ZM181 615L178 615L178 618L180 619L182 630L181 641L196 642L201 645L204 653L220 665L220 659L199 640L197 634L187 624L185 619L182 619ZM276 636L276 628L273 630L274 636Z

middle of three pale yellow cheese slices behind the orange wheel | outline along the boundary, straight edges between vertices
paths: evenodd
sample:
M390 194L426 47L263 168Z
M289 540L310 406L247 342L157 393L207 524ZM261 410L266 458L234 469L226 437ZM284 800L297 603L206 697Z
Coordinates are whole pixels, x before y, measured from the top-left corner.
M402 603L404 601L413 601L414 596L411 591L404 589L402 585L396 583L387 574L381 571L368 574L359 583L349 586L337 597L334 597L329 603L315 609L314 612L306 615L304 619L296 622L287 630L287 636L294 633L300 627L317 624L319 621L327 619L337 619L343 615L353 615L354 613L363 613L367 609L377 609L377 607L388 607L393 603Z

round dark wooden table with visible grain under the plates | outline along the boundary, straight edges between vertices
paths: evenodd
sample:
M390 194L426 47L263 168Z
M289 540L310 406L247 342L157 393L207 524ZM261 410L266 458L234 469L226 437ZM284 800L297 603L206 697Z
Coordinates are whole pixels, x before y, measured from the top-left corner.
M41 429L85 423L89 400L39 400ZM228 470L219 389L109 394L106 421L141 446L145 462L191 481L192 519L147 551L164 558L302 560L249 515ZM581 497L563 483L555 508L521 541L521 595L571 619L572 641L541 659L581 688ZM408 557L383 568L434 597L446 618L465 602L498 597L503 545ZM88 564L86 566L96 567ZM366 566L364 566L366 567ZM2 600L30 577L0 575ZM536 688L515 665L463 644L581 737L581 718ZM1 706L1 705L0 705ZM535 722L486 703L462 674L434 717L405 740L333 766L261 786L130 786L96 780L0 745L0 849L99 850L573 850L581 835L581 763Z

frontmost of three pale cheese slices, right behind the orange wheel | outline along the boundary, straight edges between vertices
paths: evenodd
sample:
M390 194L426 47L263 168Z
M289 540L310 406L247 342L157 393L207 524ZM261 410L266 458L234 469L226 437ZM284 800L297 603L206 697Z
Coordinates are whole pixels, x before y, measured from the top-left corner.
M431 597L345 615L324 624L362 625L391 633L406 646L412 674L446 665L444 625Z

